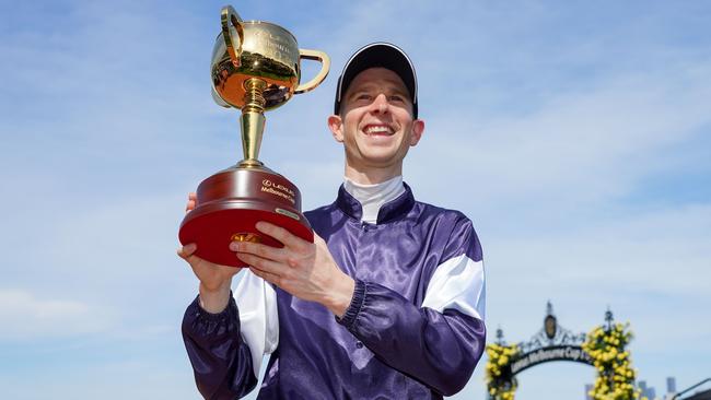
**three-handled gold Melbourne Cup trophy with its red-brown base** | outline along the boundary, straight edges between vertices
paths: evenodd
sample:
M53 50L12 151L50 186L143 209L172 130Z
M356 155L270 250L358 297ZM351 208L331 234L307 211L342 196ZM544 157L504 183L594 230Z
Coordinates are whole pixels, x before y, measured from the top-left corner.
M196 208L180 224L183 245L196 243L196 255L208 261L244 267L230 242L248 240L281 247L255 228L258 221L282 226L313 242L311 225L301 213L301 193L287 178L267 168L257 156L265 127L264 113L308 92L328 74L330 60L323 51L300 49L296 38L281 26L242 21L231 5L222 9L222 32L212 51L212 97L223 107L242 110L240 128L244 158L205 179ZM317 60L320 71L300 84L302 59Z

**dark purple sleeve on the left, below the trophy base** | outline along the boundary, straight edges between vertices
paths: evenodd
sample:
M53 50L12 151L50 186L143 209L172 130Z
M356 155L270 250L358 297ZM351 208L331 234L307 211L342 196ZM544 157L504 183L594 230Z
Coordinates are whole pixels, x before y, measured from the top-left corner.
M240 334L238 315L232 295L220 314L202 309L199 297L185 311L183 341L198 390L206 399L237 399L257 385L249 348Z

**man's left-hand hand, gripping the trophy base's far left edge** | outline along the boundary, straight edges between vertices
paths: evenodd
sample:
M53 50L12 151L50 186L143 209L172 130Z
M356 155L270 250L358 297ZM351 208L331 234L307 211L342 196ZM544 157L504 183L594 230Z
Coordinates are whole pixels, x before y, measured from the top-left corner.
M195 209L196 202L197 196L189 193L185 211L190 212ZM200 280L200 306L208 313L220 313L230 302L232 277L242 268L212 263L196 256L195 250L197 245L191 243L180 247L177 254L190 264L193 272Z

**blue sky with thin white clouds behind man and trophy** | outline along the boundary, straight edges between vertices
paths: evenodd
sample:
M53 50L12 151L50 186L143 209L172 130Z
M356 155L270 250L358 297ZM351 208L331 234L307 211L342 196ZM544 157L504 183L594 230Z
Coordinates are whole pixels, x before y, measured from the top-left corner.
M174 254L186 193L241 157L209 91L222 5L0 2L2 398L198 397L178 329L197 281ZM261 158L305 209L342 179L325 121L345 60L398 44L427 122L405 179L475 222L491 332L528 339L548 299L574 331L610 306L657 392L711 375L709 2L233 5L331 56L267 114ZM482 372L455 398L483 399ZM546 364L517 399L582 398L593 377Z

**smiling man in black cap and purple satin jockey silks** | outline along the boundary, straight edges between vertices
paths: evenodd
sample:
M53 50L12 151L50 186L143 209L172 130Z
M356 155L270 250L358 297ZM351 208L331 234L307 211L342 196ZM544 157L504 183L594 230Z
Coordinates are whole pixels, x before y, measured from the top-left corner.
M250 391L269 353L264 399L440 399L466 385L485 346L481 247L466 216L403 183L424 131L417 116L407 55L363 47L328 118L346 179L333 204L305 213L314 243L258 223L284 247L230 245L252 266L235 299L237 269L178 250L200 280L183 334L206 399Z

